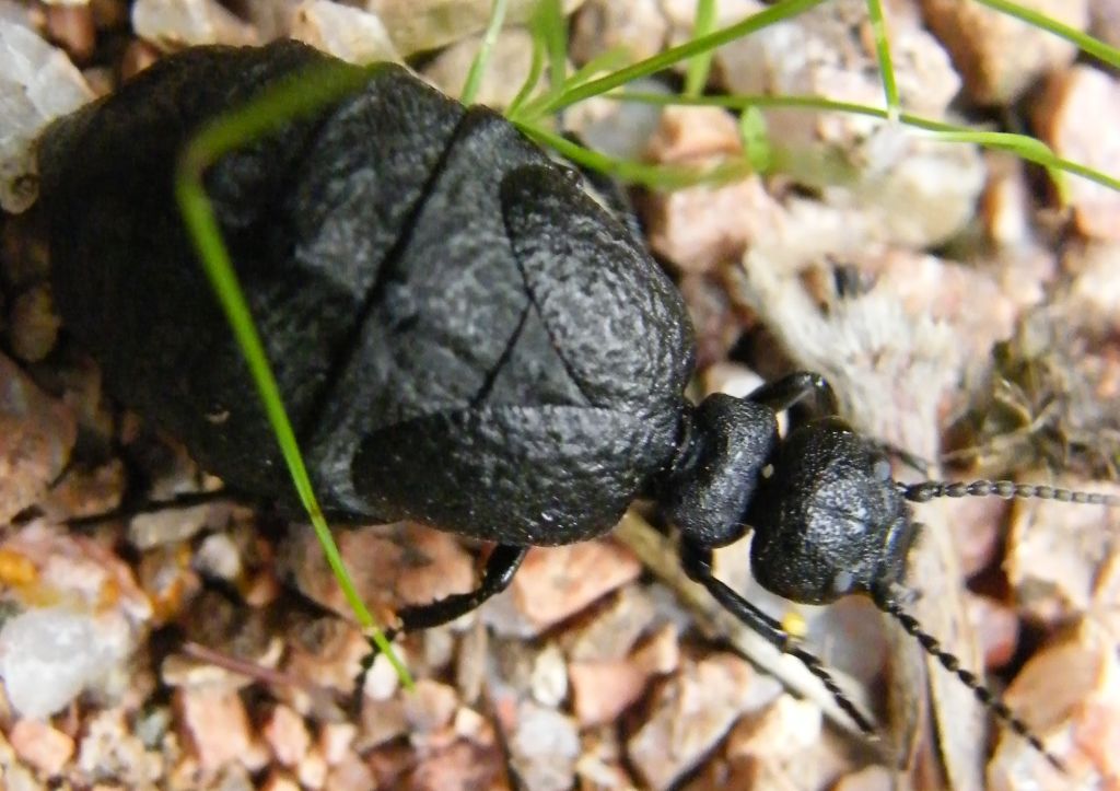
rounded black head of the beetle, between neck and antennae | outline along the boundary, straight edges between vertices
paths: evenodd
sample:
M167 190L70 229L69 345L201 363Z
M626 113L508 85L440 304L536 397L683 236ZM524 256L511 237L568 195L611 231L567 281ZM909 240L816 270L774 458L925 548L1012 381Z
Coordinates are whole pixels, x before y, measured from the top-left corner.
M778 446L749 503L750 566L784 598L824 604L900 581L916 534L890 463L838 418Z

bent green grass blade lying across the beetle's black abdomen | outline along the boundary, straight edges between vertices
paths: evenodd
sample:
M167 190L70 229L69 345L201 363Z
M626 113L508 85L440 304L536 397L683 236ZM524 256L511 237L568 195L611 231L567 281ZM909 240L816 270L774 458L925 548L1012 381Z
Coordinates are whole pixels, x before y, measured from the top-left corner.
M327 564L338 579L343 594L363 630L393 664L401 681L411 688L413 683L408 669L393 652L392 645L358 596L319 509L310 477L299 453L296 434L283 408L280 389L264 353L264 344L250 315L244 294L234 273L233 262L222 240L213 205L203 186L203 175L218 157L278 130L297 115L312 112L330 101L354 92L367 80L368 74L368 69L338 64L317 67L286 81L244 108L217 118L184 150L176 168L175 195L206 276L214 287L252 373L265 415L280 445L300 502L307 510L323 546Z

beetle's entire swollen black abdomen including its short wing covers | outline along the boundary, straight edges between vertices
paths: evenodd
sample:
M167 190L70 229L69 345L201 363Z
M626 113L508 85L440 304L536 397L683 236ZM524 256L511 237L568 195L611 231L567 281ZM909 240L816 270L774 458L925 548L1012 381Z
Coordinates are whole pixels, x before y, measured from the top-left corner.
M124 403L287 505L171 176L202 122L324 57L172 56L44 143L67 325ZM567 542L608 530L672 456L692 367L680 295L497 114L386 66L206 182L328 512Z

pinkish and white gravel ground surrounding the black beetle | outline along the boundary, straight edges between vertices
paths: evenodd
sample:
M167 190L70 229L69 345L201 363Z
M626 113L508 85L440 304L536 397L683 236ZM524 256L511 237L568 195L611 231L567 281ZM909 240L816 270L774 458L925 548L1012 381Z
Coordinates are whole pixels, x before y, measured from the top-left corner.
M488 4L0 0L2 785L1120 788L1117 509L917 510L908 609L988 671L1065 774L989 724L870 603L792 605L749 578L747 541L720 550L720 577L875 714L868 741L804 668L683 578L669 531L641 506L610 539L533 550L480 611L400 639L412 692L384 658L355 689L366 643L304 525L216 500L63 527L125 496L221 484L114 406L55 314L34 205L41 125L165 52L282 35L355 61L435 52L421 71L454 92ZM1113 72L976 2L886 4L907 111L1026 131L1120 175ZM1116 43L1113 0L1026 4ZM513 7L523 19L528 3ZM568 7L576 65L691 35L684 0ZM762 8L720 3L721 21ZM480 99L508 102L529 57L514 25ZM721 48L710 89L875 104L875 64L862 0L829 0ZM651 162L743 153L721 110L598 100L564 120ZM1084 179L1058 190L1010 155L872 118L768 110L766 123L778 173L633 194L697 327L691 394L820 371L859 430L939 459L940 476L1120 494L1120 193ZM904 465L895 475L917 480ZM470 587L488 551L416 524L338 539L383 621Z

